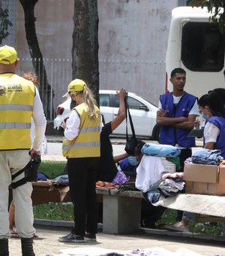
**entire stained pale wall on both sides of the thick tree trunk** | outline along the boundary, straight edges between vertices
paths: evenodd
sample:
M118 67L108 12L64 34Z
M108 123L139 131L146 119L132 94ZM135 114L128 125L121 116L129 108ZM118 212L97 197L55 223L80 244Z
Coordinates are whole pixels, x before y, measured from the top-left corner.
M66 5L65 5L66 1ZM165 86L165 55L172 8L179 0L98 0L100 88L138 93L157 104ZM15 5L15 4L14 4ZM22 70L32 69L17 1L17 43ZM71 81L74 0L38 1L34 9L40 50L46 59L55 106Z

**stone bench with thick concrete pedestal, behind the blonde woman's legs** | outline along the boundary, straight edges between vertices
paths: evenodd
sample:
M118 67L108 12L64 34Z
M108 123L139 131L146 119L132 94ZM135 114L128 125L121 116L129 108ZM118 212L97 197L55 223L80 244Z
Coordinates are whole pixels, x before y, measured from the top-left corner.
M33 205L71 202L69 187L52 185L49 181L33 182ZM140 227L141 191L96 187L99 202L103 202L103 232L130 233Z

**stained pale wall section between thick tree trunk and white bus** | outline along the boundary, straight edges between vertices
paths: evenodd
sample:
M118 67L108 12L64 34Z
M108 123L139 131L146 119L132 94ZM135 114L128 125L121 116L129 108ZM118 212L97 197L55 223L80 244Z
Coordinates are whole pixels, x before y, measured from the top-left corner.
M157 104L165 87L169 23L177 1L98 3L101 89L125 87Z

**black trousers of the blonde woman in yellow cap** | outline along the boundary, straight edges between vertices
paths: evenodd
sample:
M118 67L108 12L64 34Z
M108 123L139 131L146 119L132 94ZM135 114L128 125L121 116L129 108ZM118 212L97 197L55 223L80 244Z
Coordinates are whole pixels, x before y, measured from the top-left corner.
M78 236L84 236L86 232L97 233L98 209L95 188L99 165L100 157L68 159L75 223L75 228L71 232Z

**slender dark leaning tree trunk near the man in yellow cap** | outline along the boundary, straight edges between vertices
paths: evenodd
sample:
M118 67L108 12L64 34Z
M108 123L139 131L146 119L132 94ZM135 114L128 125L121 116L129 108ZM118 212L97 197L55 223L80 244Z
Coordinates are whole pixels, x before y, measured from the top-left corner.
M47 81L46 69L43 65L43 56L40 52L40 47L37 40L34 7L38 0L20 0L20 4L23 6L26 40L28 43L29 52L31 54L32 63L34 66L34 72L37 75L39 82L40 97L43 102L43 107L46 111L46 117L51 117L50 113L50 96L51 86ZM54 96L54 95L53 95Z

